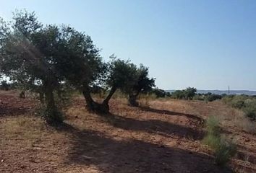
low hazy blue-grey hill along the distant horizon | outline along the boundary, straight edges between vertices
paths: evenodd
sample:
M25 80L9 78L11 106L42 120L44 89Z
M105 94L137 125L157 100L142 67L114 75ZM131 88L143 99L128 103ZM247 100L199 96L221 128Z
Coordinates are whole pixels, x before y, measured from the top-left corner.
M166 90L166 92L175 92L176 90L174 89L170 89L170 90ZM201 90L198 89L197 93L200 94L206 94L208 92L211 92L213 94L236 94L236 95L240 95L240 94L246 94L246 95L256 95L256 91L249 91L249 90Z

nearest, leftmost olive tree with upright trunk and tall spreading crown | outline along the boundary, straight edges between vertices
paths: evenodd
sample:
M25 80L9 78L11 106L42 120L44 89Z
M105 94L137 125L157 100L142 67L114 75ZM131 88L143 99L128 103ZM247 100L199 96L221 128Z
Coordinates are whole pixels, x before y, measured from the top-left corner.
M16 12L11 22L1 20L0 28L1 74L27 89L38 88L46 102L47 122L61 123L54 100L62 81L54 64L62 55L59 27L43 27L34 13Z

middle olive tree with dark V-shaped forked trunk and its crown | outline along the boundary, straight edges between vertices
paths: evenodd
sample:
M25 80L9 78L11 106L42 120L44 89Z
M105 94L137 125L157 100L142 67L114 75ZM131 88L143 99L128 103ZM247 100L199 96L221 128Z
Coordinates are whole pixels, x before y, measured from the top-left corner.
M86 107L90 111L108 113L108 102L117 89L127 90L135 85L136 66L111 56L111 61L103 63L98 48L88 35L73 29L69 42L75 50L68 50L67 56L58 60L61 74L85 97ZM69 46L71 48L72 46ZM71 52L71 54L70 54ZM104 88L108 94L103 102L95 102L91 93L96 87Z

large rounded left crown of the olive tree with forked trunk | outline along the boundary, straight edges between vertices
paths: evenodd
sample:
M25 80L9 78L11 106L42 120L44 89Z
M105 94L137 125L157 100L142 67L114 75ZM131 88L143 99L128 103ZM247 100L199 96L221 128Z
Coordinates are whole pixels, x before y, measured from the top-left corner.
M59 34L63 53L54 58L59 74L79 90L101 83L106 64L90 36L67 26L61 27Z

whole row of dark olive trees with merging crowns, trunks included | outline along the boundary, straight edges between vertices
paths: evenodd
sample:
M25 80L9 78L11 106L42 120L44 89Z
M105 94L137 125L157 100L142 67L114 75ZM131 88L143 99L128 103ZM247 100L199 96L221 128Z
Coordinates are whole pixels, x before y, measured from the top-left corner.
M56 97L69 88L82 92L88 110L101 113L108 113L116 90L127 94L132 106L142 92L162 94L152 90L155 79L147 67L114 55L106 63L90 36L68 25L43 25L34 12L16 11L12 21L0 19L0 67L1 75L40 95L48 123L62 122ZM1 87L7 85L2 81ZM101 90L108 94L96 102L91 94Z

